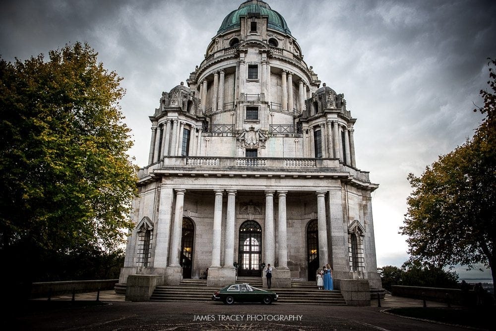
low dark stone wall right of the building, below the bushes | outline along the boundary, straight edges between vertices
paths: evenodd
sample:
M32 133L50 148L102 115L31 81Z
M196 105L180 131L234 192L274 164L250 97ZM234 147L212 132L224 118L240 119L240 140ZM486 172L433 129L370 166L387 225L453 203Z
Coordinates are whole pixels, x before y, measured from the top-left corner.
M473 290L463 292L456 288L437 288L437 287L420 287L420 286L401 286L392 285L391 294L405 298L426 299L428 301L449 302L456 305L465 305L469 302L475 302L475 293Z

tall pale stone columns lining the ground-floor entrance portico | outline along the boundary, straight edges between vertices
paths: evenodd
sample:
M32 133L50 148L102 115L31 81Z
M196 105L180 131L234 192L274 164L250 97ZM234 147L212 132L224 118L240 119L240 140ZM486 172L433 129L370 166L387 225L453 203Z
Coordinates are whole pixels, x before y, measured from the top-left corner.
M167 260L168 247L165 247L169 242L167 229L172 228L171 236L171 256L169 258L169 266L178 267L180 266L180 253L181 253L181 230L183 224L183 209L185 200L185 189L175 189L175 215L172 226L170 226L170 221L162 220L164 222L163 228L165 231L161 232L160 243L163 243L164 247L160 247L157 242L155 251L162 251L162 257L159 262L162 267L165 267L164 261ZM223 195L224 190L215 189L213 190L215 194L214 202L214 217L213 217L213 235L212 235L212 258L210 267L223 267L223 268L234 268L233 263L235 262L235 239L237 234L236 229L236 190L226 190L227 193L227 211L226 211L226 222L224 229L222 228L222 215L223 215ZM263 255L264 261L275 266L277 269L288 269L288 234L287 234L287 218L286 218L286 196L288 191L274 191L266 190L265 194L265 223L264 223L264 244L263 244ZM320 261L328 261L327 252L327 223L325 214L325 191L316 191L317 197L317 219L318 219L318 240L319 240L319 257ZM274 226L274 198L278 199L278 222L277 229ZM161 206L162 202L167 198L173 198L172 189L162 189L161 191ZM172 218L170 211L163 211L164 217ZM160 214L160 210L159 210ZM162 215L162 214L160 214ZM276 240L275 231L278 234L278 251L276 252ZM224 261L221 261L221 238L222 231L224 231ZM164 240L166 239L166 240ZM164 255L165 251L165 257ZM277 253L277 264L276 264L276 253ZM156 263L157 264L157 263ZM158 267L155 264L155 267Z

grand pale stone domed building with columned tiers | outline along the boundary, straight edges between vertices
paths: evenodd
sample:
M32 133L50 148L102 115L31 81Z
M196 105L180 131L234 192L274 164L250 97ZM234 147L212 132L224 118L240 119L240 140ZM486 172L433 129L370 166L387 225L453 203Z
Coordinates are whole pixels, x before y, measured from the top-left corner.
M357 167L356 119L343 94L321 86L281 14L243 2L186 83L150 116L120 282L180 284L208 268L208 285L221 286L260 279L270 264L272 286L290 287L329 263L338 289L381 288L378 185Z

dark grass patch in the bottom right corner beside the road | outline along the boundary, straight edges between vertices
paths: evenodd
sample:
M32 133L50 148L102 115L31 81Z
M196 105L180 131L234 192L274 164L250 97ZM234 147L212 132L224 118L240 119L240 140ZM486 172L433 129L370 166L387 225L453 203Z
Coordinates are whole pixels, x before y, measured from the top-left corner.
M394 308L389 309L387 312L446 324L462 325L478 329L493 329L496 307Z

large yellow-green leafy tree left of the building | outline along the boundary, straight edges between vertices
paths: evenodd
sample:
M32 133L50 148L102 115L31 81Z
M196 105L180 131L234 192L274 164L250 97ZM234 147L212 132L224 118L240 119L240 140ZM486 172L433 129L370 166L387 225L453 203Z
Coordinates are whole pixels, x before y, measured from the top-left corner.
M12 277L37 279L49 257L124 242L136 183L125 91L97 55L75 43L47 61L0 58L0 257Z

